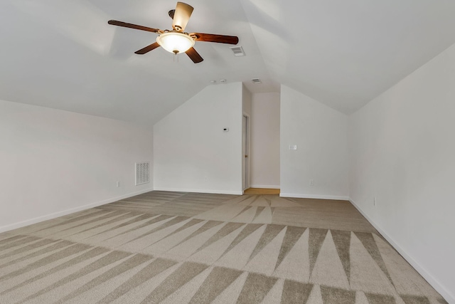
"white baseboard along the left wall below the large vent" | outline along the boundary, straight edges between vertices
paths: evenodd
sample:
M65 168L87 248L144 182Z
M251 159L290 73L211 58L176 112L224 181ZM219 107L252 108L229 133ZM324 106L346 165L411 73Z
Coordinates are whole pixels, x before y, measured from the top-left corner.
M141 191L138 191L138 192L131 192L129 194L124 194L122 196L112 197L111 199L105 199L103 201L96 201L95 203L91 203L91 204L87 204L87 205L83 205L83 206L78 206L78 207L75 207L75 208L72 208L72 209L67 209L67 210L64 210L64 211L54 212L52 214L47 214L45 216L38 216L36 218L27 219L25 221L19 221L18 223L9 224L9 225L6 225L6 226L1 226L0 227L0 232L10 231L10 230L13 230L13 229L18 229L18 228L21 228L23 226L28 226L28 225L39 223L40 221L47 221L48 219L55 219L55 218L57 218L59 216L64 216L64 215L72 214L72 213L75 213L75 212L78 212L78 211L82 211L82 210L86 210L86 209L90 209L90 208L95 208L97 206L109 204L109 203L112 203L114 201L119 201L120 199L126 199L126 198L131 197L131 196L135 196L135 195L139 195L139 194L143 194L143 193L151 192L151 191L153 191L153 189L145 189L145 190L141 190Z

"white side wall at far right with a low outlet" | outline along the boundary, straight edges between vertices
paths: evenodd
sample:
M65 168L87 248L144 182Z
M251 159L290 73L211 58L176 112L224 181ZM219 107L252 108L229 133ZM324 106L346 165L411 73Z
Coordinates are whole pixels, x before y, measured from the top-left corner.
M350 164L353 203L455 303L455 45L351 115Z

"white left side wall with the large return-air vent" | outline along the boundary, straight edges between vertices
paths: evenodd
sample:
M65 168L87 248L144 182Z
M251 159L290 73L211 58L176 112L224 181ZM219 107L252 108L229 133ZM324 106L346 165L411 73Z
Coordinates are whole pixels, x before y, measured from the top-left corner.
M152 189L152 132L127 122L0 100L0 139L0 231Z

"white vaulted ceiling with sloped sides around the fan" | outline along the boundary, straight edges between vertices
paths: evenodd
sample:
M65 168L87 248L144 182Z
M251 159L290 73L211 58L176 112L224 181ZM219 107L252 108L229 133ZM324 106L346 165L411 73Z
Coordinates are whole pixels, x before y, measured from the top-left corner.
M348 114L455 43L452 0L186 2L186 31L239 36L247 56L205 42L198 64L136 55L156 34L107 24L171 28L176 1L0 1L0 99L153 125L225 78L252 93L288 85Z

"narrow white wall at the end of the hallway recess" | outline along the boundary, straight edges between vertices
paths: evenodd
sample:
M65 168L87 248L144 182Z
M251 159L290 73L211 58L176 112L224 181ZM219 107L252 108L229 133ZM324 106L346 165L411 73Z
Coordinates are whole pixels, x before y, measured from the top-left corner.
M279 93L253 94L251 112L251 187L279 188Z

